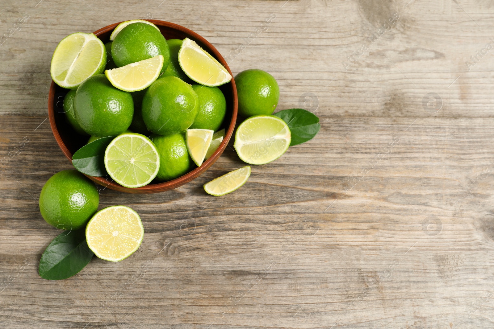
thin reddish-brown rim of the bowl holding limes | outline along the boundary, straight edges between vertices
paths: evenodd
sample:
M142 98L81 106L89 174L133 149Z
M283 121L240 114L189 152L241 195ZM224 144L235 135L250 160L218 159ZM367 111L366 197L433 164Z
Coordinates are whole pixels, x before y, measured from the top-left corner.
M195 33L192 30L187 29L186 27L183 27L181 25L171 23L171 22L161 21L161 20L146 19L146 21L149 21L158 27L162 26L162 27L166 27L166 28L171 28L171 29L179 30L185 34L188 34L188 35L196 38L196 40L199 40L200 42L205 44L206 47L208 47L211 50L211 55L213 55L213 57L217 58L218 61L221 63L221 65L223 65L225 67L225 69L227 69L228 73L230 73L230 75L232 76L230 83L231 83L231 88L232 88L233 109L232 109L231 121L228 124L228 129L225 132L225 138L221 142L220 146L218 146L216 151L214 151L214 153L206 161L204 161L204 163L201 165L201 167L197 167L194 170L188 172L187 174L182 175L182 176L180 176L174 180L163 182L163 183L154 183L154 184L150 183L150 184L148 184L146 186L142 186L142 187L129 188L129 187L124 187L124 186L122 186L118 183L115 183L113 181L110 181L110 180L106 179L105 177L94 177L94 176L85 175L86 177L91 179L93 182L98 183L99 185L108 187L110 189L118 190L121 192L135 193L135 194L164 192L166 190L171 190L171 189L174 189L176 187L179 187L185 183L189 183L189 182L193 181L194 179L196 179L197 177L199 177L220 157L220 155L225 150L226 146L228 145L228 142L230 141L230 139L233 135L233 131L235 130L235 124L237 121L237 114L238 114L238 98L237 98L237 88L235 85L235 80L233 78L233 74L232 74L232 71L230 70L230 67L226 63L223 56L221 56L219 51L211 43L209 43L204 37L201 37L199 34ZM105 26L105 27L93 32L93 34L96 36L99 36L103 33L107 33L109 31L112 31L120 23L123 23L123 22L110 24L108 26ZM55 97L55 88L56 88L55 81L52 80L51 85L50 85L50 89L49 89L49 93L48 93L48 118L50 121L50 127L51 127L51 131L53 133L53 136L55 137L55 140L56 140L58 146L60 147L62 152L65 154L67 159L69 159L69 161L71 161L71 163L72 163L72 155L73 154L69 151L67 146L65 146L65 144L64 144L64 142L63 142L63 140L62 140L62 138L58 132L58 128L56 126L56 123L55 123L55 111L54 111L54 107L53 107L53 103L54 103L53 101L54 101L54 97Z

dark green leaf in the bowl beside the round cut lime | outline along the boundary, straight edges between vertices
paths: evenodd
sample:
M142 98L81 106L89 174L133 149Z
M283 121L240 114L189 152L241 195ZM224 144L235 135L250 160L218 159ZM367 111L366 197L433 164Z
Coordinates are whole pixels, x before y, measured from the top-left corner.
M106 176L105 169L105 150L106 146L116 136L108 136L97 139L89 144L82 146L72 156L72 164L82 174L89 176Z

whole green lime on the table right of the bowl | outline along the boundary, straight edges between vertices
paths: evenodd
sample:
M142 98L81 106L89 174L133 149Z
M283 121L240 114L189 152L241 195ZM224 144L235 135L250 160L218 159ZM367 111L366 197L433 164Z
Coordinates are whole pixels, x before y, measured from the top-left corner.
M240 115L273 114L280 98L280 88L273 75L257 69L246 70L235 76L235 84Z

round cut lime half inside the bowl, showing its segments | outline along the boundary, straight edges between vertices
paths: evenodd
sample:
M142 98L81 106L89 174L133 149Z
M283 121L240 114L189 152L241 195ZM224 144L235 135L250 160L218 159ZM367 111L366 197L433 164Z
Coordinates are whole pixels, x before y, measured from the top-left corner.
M160 169L160 156L149 138L124 133L106 147L105 168L113 180L125 187L151 183Z

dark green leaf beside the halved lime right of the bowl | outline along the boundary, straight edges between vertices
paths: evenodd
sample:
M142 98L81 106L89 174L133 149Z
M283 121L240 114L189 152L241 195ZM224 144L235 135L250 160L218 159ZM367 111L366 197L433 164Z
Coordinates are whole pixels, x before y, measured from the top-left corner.
M321 128L319 118L304 109L288 109L274 113L285 121L290 128L290 146L305 143L316 136Z

